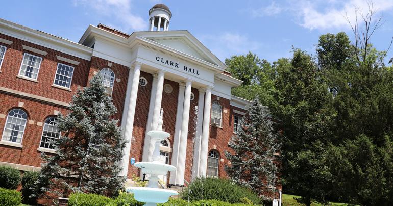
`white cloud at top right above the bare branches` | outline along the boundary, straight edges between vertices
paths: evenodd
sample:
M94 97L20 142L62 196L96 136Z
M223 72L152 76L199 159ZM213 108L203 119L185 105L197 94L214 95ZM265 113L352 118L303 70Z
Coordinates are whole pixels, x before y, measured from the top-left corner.
M313 29L331 29L349 27L356 20L355 9L367 12L370 0L350 1L296 1L291 2L292 11L300 18L298 22L302 27ZM391 0L374 0L374 10L379 15L381 12L393 9Z

